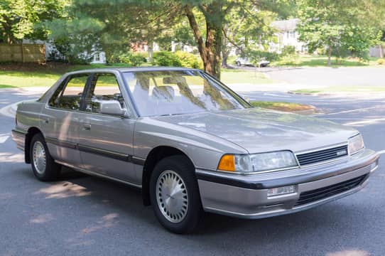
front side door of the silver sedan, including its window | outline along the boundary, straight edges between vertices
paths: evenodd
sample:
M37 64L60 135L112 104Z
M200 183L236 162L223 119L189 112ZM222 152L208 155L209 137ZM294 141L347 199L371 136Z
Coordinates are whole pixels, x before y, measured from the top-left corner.
M80 113L79 149L82 166L104 176L139 183L131 163L135 120L122 115L104 114L100 106L119 102L126 109L119 83L113 73L94 73L85 93Z

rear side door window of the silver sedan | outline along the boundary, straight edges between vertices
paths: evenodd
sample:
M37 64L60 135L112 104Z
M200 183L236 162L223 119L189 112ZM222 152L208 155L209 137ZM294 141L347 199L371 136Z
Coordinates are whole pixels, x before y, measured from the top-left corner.
M50 98L48 105L65 110L80 110L87 79L88 74L75 75L67 78Z

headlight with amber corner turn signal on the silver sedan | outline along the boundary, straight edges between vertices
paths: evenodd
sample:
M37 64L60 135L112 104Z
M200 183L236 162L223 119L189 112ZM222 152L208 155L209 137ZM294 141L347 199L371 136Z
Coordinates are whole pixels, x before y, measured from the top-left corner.
M295 166L298 164L291 151L276 151L261 154L225 154L219 161L218 170L250 173Z

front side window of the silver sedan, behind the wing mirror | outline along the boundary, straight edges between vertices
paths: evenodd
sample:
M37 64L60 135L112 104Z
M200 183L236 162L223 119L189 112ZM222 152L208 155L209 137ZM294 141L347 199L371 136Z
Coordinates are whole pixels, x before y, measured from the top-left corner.
M119 102L122 110L126 108L115 75L111 73L94 74L85 98L85 111L102 114L102 104L113 101Z

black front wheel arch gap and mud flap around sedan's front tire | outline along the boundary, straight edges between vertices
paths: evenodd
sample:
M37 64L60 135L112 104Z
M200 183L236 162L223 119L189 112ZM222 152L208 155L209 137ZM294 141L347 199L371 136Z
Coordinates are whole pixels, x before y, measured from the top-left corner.
M181 155L185 156L186 159L190 162L191 166L195 168L195 165L193 161L190 159L190 157L185 154L180 149L177 149L173 146L156 146L155 148L151 149L150 153L148 153L146 160L143 164L143 174L142 174L142 196L143 196L143 204L145 206L150 206L150 177L151 173L156 166L156 163L158 161L161 161L161 159L164 159L168 156L176 156Z

